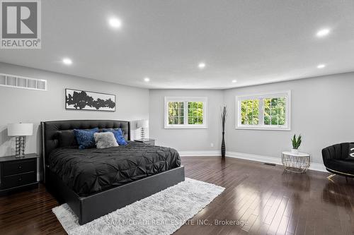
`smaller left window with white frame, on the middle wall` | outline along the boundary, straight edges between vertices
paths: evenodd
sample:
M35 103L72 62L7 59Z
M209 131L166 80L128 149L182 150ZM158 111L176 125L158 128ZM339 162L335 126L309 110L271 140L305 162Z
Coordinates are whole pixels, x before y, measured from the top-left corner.
M207 128L206 97L165 97L165 128Z

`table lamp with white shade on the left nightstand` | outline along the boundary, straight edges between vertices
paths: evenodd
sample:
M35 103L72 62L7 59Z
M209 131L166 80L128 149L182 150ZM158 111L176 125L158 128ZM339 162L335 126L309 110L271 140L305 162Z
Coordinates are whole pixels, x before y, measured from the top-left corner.
M8 124L7 134L16 136L16 157L25 157L25 136L33 135L33 123Z

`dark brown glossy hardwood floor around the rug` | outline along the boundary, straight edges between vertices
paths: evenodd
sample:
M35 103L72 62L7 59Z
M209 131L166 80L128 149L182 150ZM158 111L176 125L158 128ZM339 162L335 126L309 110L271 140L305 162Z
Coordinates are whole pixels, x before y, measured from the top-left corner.
M175 234L354 234L354 179L219 157L182 157L185 176L225 191ZM65 234L44 186L0 198L0 234ZM207 219L207 220L205 220ZM195 225L238 220L237 225Z

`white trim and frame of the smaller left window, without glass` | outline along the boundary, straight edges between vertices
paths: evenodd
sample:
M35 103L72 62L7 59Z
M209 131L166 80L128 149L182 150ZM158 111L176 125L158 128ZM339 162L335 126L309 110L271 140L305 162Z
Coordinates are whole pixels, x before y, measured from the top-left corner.
M169 124L169 109L167 104L169 102L203 102L203 121L202 125L199 124ZM184 104L185 109L188 109L188 106ZM184 123L188 123L188 110L185 112L184 109ZM206 129L207 128L207 97L165 97L164 103L164 128L165 129Z

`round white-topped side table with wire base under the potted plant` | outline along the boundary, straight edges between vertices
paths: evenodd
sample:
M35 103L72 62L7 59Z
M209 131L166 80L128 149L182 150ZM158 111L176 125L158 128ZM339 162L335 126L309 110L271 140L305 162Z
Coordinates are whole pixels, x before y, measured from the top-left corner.
M287 171L304 173L309 169L310 155L304 152L299 152L297 155L292 152L282 152L282 165Z

